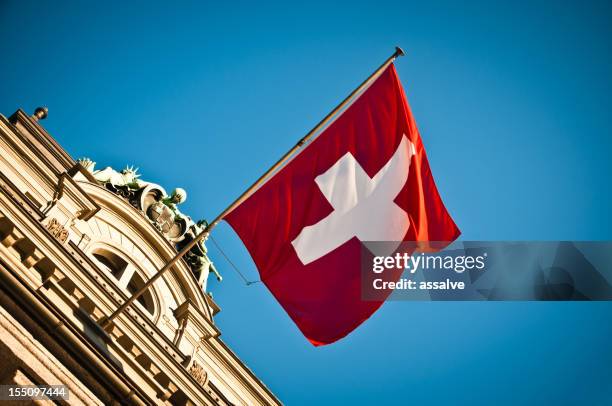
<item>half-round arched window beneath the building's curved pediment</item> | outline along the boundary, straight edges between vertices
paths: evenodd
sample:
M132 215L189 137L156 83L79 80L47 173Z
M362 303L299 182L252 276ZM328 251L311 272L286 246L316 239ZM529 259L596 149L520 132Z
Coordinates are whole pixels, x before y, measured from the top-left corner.
M136 267L118 254L105 248L97 248L92 252L92 256L100 268L109 272L117 280L117 285L130 295L144 286L145 282L136 272ZM145 291L136 301L151 315L154 314L155 302L150 290Z

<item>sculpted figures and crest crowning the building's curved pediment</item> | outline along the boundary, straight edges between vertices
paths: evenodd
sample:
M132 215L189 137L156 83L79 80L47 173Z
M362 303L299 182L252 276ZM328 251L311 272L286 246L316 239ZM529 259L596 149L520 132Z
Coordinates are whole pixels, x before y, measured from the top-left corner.
M184 189L176 188L169 195L160 185L142 181L138 169L126 167L116 171L111 167L96 170L96 163L89 158L81 158L78 162L88 170L96 181L107 190L115 193L138 209L151 224L177 249L181 249L193 240L206 226L205 220L194 222L191 217L183 214L179 205L187 199ZM196 244L184 257L185 261L206 290L206 281L210 272L217 280L222 277L208 258L204 241Z

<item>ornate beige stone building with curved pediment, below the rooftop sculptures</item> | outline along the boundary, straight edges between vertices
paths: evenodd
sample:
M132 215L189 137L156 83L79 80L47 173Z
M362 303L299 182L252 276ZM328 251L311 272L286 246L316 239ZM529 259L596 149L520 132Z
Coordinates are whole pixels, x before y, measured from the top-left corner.
M75 405L280 404L220 339L204 244L100 327L201 224L183 191L75 161L45 116L0 115L0 384L64 384Z

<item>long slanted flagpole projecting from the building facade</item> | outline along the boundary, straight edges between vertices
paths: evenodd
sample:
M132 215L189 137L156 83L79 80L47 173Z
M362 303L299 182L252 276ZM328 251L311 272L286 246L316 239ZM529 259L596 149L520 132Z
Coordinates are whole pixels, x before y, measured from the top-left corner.
M168 269L172 268L174 264L176 264L189 250L191 250L200 240L208 236L213 228L223 218L228 215L232 210L238 207L242 202L244 202L259 186L261 186L267 178L274 173L278 168L280 168L291 156L299 150L308 140L310 140L313 136L315 136L319 130L321 130L329 121L334 118L334 116L341 111L347 104L349 104L353 98L359 94L362 90L364 90L372 81L374 81L380 74L395 61L395 59L399 56L404 56L404 51L400 47L395 47L395 52L391 55L382 65L378 67L366 80L364 80L355 90L351 92L340 104L338 104L327 116L325 116L319 123L313 127L312 130L308 132L304 137L302 137L289 151L285 153L274 165L272 165L263 175L259 177L244 193L242 193L236 200L234 200L225 210L223 210L215 219L206 225L204 230L198 234L193 240L191 240L187 245L185 245L175 256L164 265L156 274L154 274L138 291L136 291L128 300L123 302L121 306L117 308L110 316L102 317L99 320L100 326L102 328L107 329L111 326L112 321L128 306L130 306L136 299L138 299L153 283L159 279Z

